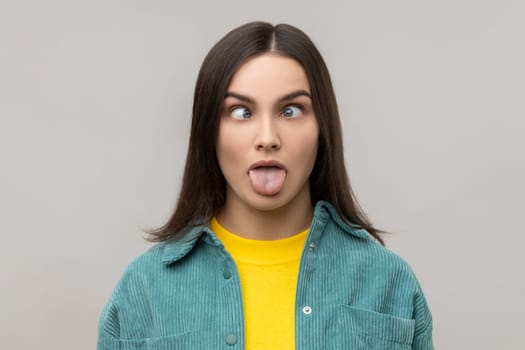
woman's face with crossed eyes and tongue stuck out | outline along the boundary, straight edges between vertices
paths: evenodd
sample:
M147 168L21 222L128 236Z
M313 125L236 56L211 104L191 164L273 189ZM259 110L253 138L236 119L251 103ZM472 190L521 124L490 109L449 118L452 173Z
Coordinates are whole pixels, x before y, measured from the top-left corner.
M226 204L267 211L309 203L318 136L301 65L276 54L247 60L227 89L216 145Z

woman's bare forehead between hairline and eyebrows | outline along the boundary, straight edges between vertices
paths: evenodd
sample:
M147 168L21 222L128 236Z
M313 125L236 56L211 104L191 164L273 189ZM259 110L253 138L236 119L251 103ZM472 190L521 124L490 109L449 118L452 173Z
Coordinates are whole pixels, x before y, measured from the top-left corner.
M290 91L306 90L310 85L303 67L294 59L264 54L248 59L233 75L229 92L257 98L277 98Z

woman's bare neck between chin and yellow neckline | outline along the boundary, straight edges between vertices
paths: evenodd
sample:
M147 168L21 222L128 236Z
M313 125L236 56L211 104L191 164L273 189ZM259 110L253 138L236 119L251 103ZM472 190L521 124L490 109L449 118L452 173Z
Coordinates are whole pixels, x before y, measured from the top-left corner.
M226 230L241 237L276 240L307 229L312 222L313 212L309 191L272 210L260 210L239 200L228 200L227 196L217 220Z

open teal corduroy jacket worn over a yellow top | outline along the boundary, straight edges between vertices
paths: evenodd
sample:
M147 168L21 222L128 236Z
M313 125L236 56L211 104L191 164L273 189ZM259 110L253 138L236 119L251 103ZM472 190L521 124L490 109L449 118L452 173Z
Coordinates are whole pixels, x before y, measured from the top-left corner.
M244 349L234 261L208 225L183 237L128 266L102 312L98 350ZM409 265L322 201L301 257L295 348L433 349L432 317Z

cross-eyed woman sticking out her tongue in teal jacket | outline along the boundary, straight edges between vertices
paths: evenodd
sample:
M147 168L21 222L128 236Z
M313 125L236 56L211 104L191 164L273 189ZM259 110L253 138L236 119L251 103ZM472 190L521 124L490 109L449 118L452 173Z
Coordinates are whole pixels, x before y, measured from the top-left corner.
M328 70L289 25L221 39L197 80L183 184L130 264L99 349L432 349L410 267L344 167Z

